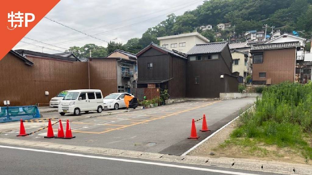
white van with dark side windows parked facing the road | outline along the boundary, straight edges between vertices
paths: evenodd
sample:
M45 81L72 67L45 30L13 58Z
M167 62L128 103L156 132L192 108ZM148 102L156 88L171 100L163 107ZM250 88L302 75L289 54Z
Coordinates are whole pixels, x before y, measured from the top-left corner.
M103 110L103 95L99 89L70 90L58 106L61 116L64 116L65 113L79 115L82 111L88 113L95 110L98 113Z

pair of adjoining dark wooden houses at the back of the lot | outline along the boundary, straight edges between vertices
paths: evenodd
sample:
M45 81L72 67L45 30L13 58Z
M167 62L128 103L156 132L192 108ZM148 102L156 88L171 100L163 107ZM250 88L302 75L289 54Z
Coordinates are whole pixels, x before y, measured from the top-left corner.
M151 43L137 58L140 88L168 89L171 98L215 98L238 91L227 42L198 44L188 55Z

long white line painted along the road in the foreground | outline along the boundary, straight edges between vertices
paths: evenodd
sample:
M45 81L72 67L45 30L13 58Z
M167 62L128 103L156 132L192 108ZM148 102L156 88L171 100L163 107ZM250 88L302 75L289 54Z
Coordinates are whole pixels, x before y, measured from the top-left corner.
M168 163L148 162L148 161L131 160L131 159L123 159L123 158L110 158L110 157L102 157L102 156L91 156L91 155L85 155L85 154L49 151L49 150L44 150L44 149L21 148L21 147L4 146L4 145L0 145L0 148L19 149L19 150L26 150L26 151L41 152L41 153L62 154L62 155L67 155L67 156L76 156L76 157L84 157L84 158L96 158L96 159L113 160L113 161L119 161L119 162L141 163L141 164L147 164L147 165L156 165L156 166L172 167L172 168L182 168L182 169L207 171L207 172L223 173L223 174L260 175L260 174L240 173L240 172L233 172L233 171L226 171L226 170L217 170L217 169L210 169L210 168L198 168L198 167L175 165L175 164L168 164Z

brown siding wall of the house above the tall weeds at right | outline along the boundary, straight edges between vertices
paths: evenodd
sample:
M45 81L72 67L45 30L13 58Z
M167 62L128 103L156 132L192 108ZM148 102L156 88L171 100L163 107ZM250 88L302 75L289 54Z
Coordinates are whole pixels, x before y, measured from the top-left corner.
M252 64L252 80L266 81L271 78L271 83L283 81L294 82L295 78L296 49L265 50L263 63ZM266 72L266 78L259 78L260 72Z

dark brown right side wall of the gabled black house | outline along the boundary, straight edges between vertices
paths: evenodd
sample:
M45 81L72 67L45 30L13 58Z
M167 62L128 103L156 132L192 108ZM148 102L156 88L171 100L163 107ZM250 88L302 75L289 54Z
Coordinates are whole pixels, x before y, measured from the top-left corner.
M168 55L169 80L168 93L171 98L186 97L186 62L182 59Z

